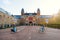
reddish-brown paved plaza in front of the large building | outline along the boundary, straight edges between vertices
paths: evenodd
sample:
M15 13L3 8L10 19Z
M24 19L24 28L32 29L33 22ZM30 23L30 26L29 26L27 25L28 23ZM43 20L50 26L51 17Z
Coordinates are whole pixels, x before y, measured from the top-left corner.
M60 29L45 28L39 31L39 26L19 26L17 32L11 28L0 30L0 40L60 40Z

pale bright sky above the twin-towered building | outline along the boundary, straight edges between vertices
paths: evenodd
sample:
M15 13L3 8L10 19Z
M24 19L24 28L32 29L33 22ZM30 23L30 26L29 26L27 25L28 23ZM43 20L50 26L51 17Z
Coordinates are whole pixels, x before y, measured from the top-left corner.
M37 12L40 9L41 15L53 15L60 9L60 0L0 0L0 8L13 15L21 15L21 9L26 13Z

